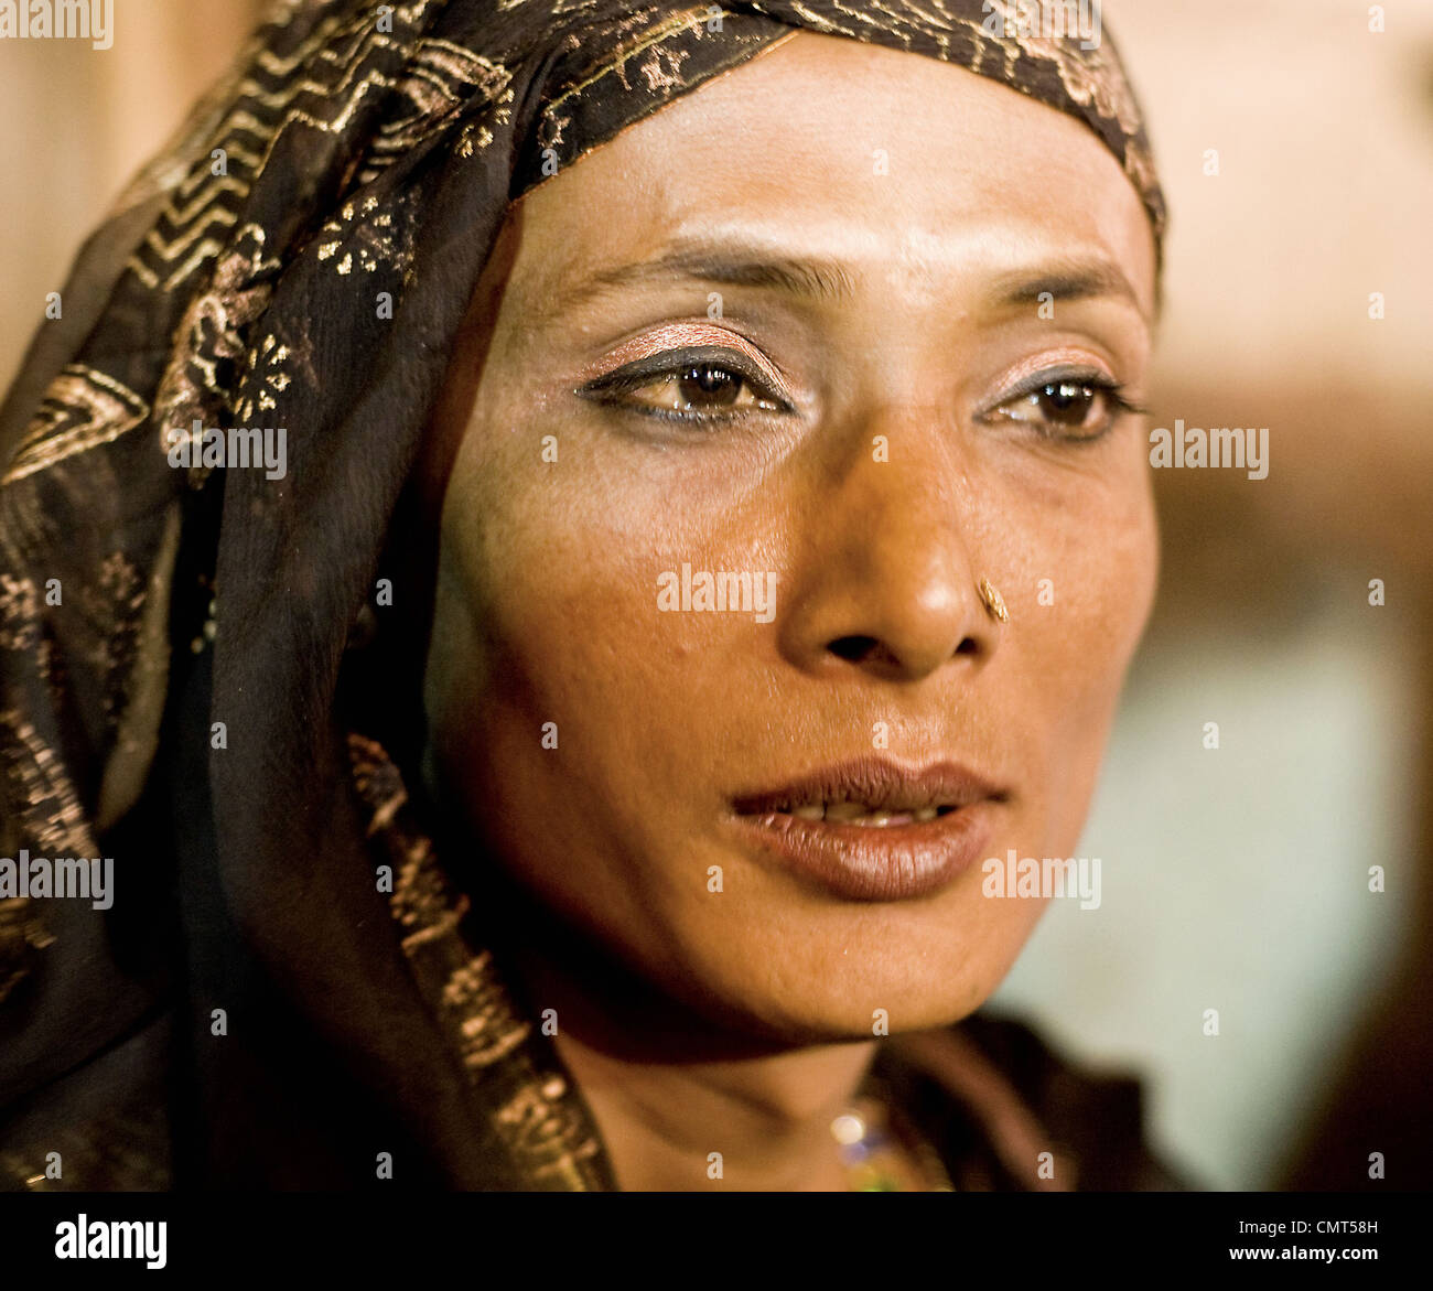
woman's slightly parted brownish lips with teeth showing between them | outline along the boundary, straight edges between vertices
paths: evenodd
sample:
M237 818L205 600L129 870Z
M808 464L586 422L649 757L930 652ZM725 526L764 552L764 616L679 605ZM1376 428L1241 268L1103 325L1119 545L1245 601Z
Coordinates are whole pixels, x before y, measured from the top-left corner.
M989 848L1009 794L954 762L864 758L732 800L732 825L764 857L847 901L939 891Z

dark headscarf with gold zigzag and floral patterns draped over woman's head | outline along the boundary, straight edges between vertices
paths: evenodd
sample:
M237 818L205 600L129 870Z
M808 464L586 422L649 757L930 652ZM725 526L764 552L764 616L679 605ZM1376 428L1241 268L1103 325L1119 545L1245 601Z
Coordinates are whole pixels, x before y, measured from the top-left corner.
M0 855L115 858L107 911L0 898L11 1175L53 1148L64 1186L354 1186L390 1152L404 1182L612 1185L406 788L416 688L353 683L375 623L427 613L374 587L454 337L513 201L797 29L1078 117L1158 244L1108 36L1029 13L277 7L85 245L0 410ZM195 423L285 427L287 474L172 467Z

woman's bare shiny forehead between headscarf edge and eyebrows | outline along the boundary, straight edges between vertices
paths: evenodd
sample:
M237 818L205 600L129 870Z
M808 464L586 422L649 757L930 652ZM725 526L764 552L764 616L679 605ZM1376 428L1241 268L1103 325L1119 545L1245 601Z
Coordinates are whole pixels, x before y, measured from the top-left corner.
M1148 218L1083 125L959 66L811 33L628 128L522 208L517 278L545 312L714 265L691 277L944 289L979 269L1015 289L1056 262L1063 278L1123 278L1152 309Z

